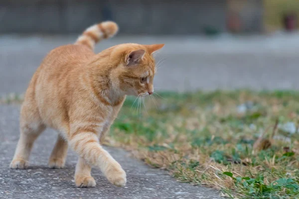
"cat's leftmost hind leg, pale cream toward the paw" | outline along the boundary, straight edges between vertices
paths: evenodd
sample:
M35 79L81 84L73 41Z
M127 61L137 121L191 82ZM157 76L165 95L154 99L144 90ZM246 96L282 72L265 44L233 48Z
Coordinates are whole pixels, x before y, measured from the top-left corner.
M45 129L38 113L37 107L24 101L20 114L20 138L17 142L11 169L26 169L29 164L29 155L34 141Z

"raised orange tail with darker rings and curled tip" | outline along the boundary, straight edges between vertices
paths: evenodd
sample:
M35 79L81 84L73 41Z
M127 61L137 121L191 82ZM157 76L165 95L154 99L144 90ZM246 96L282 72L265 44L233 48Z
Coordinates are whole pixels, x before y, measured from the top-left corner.
M80 35L75 44L86 45L94 49L95 44L102 39L113 37L118 31L118 25L113 21L104 21L87 28L82 35Z

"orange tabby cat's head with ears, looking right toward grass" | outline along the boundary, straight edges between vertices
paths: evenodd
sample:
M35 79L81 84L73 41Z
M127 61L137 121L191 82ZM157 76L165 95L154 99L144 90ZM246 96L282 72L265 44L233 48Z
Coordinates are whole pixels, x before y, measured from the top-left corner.
M153 53L164 44L126 44L118 67L112 73L112 84L125 95L149 96L153 93L153 77L156 72Z

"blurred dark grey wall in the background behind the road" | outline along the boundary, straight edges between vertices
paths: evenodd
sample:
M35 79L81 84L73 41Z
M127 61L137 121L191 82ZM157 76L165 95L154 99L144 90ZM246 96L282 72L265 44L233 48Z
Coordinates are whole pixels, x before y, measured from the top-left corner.
M1 0L0 33L78 33L115 20L121 34L262 32L263 0Z

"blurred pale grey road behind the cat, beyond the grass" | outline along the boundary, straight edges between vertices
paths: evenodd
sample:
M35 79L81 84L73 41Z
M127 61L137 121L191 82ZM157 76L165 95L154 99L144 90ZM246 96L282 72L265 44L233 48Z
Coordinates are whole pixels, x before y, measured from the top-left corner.
M0 36L0 95L23 93L43 57L73 36ZM97 44L165 43L157 54L157 90L299 89L299 34L215 39L128 36Z

